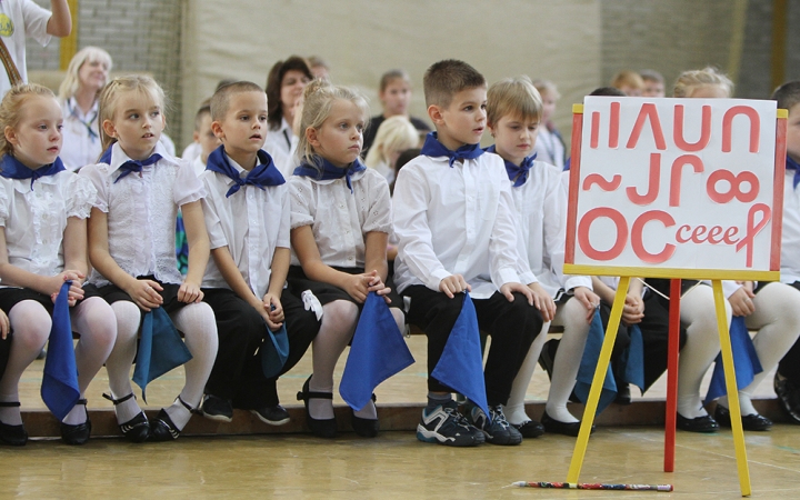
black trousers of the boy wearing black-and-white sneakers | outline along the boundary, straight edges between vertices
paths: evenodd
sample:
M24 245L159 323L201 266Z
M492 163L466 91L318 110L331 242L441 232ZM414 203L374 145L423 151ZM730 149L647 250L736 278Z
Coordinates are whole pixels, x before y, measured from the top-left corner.
M403 294L411 298L408 321L428 336L428 390L453 392L430 373L441 358L466 296L459 293L449 299L444 293L421 284L407 288ZM490 406L506 404L528 349L541 331L542 316L521 293L514 293L513 302L509 302L500 292L489 299L472 299L472 302L478 327L492 339L483 369L487 400Z

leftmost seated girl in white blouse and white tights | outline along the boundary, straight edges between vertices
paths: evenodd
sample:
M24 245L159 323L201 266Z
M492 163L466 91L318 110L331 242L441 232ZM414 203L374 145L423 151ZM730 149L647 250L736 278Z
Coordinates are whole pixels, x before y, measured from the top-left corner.
M13 330L0 379L0 440L22 446L18 384L50 334L53 300L71 280L69 304L80 399L61 421L61 438L82 444L91 433L84 391L117 338L109 304L82 288L88 270L86 219L96 192L91 182L64 170L61 107L40 86L9 90L0 103L0 308ZM3 336L4 337L4 336Z

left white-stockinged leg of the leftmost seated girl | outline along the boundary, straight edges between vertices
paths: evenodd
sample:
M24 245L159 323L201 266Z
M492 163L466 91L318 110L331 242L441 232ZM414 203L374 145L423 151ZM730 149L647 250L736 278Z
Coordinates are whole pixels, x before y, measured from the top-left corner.
M18 302L9 311L13 340L6 372L0 379L0 401L19 401L19 380L26 368L39 356L48 337L52 320L47 310L34 300ZM0 421L9 426L22 423L20 407L0 407Z

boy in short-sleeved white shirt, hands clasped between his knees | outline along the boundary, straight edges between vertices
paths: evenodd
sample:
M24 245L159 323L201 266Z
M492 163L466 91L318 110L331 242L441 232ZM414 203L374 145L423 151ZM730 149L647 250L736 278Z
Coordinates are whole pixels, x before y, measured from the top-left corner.
M217 318L219 351L206 384L203 416L231 421L233 408L280 426L277 377L267 378L267 329L286 323L289 354L281 373L297 363L319 322L283 288L289 271L289 190L261 149L267 134L267 96L251 82L221 87L211 98L211 128L222 146L211 152L200 179L208 192L203 214L211 257L203 278L206 301ZM258 353L257 353L258 351Z

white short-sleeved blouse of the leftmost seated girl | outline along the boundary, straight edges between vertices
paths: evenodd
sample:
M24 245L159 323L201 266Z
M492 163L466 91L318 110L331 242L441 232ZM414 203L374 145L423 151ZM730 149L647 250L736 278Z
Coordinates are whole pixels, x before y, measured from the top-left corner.
M86 219L97 191L91 182L64 170L30 179L0 177L0 226L6 228L9 263L40 276L64 270L67 218Z

